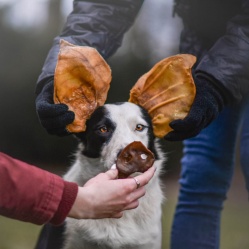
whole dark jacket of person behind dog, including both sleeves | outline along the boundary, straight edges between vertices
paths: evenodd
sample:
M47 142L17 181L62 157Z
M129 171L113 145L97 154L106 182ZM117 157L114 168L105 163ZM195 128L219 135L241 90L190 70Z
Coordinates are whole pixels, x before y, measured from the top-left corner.
M54 40L38 79L39 93L53 77L61 38L95 47L106 59L121 45L143 0L74 1L65 28ZM177 0L183 18L180 52L198 57L196 74L207 75L226 97L240 101L249 92L249 0Z

